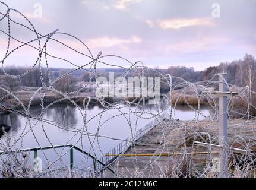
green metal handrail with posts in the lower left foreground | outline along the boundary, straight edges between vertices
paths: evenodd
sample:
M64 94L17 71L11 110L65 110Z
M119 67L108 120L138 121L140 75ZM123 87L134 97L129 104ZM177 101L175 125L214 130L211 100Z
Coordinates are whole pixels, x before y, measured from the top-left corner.
M74 167L74 150L79 151L80 153L86 154L89 156L91 159L93 159L93 169L94 171L97 171L97 164L100 164L102 167L99 170L99 172L102 172L105 169L110 170L110 172L115 173L112 169L110 169L108 166L106 166L105 163L101 162L100 160L96 159L96 157L92 156L91 154L87 153L86 151L82 150L81 148L76 147L75 145L72 144L66 144L66 145L55 145L55 146L48 146L48 147L36 147L36 148L26 148L26 149L20 149L20 150L11 150L11 151L5 151L5 152L0 152L0 155L3 154L10 154L10 153L18 153L18 152L28 152L28 151L34 151L34 159L37 158L38 151L40 150L50 150L52 148L65 148L69 147L69 167L72 170ZM36 164L36 163L34 163Z

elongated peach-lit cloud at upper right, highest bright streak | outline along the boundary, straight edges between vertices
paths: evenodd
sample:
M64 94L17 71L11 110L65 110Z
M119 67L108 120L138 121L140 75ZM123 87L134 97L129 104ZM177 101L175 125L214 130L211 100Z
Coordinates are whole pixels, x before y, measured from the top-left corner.
M212 18L191 18L191 19L170 19L170 20L159 20L159 27L162 29L180 29L182 27L191 26L213 26Z

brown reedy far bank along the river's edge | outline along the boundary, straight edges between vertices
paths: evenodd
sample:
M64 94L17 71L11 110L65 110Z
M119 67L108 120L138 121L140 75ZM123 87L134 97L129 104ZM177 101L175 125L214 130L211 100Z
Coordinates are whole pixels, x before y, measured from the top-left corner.
M17 93L15 93L15 96L17 96L18 99L20 99L21 102L27 107L29 105L31 97L33 96L33 93L34 93L34 90L18 91ZM61 96L58 93L54 93L53 91L42 90L41 94L43 96L44 107L55 101L57 102L59 101L59 103L65 103L65 104L71 103L70 100L65 99L63 96ZM160 94L160 95L161 97L165 96L165 94ZM83 107L83 100L86 97L91 98L89 103L90 105L100 105L99 99L97 99L96 95L92 91L79 92L79 93L75 93L68 96L71 97L71 99L75 103L77 103L77 105L82 107ZM182 94L181 90L173 90L170 104L195 106L195 109L197 109L198 101L199 101L200 106L209 106L209 105L217 106L216 104L218 103L218 97L213 96L211 98L212 99L207 99L206 97L197 97L192 92L186 92L185 94ZM123 98L116 98L116 97L105 97L104 100L105 102L108 102L108 103L121 102L124 100L132 102L134 101L134 98L123 99ZM138 103L139 100L140 98L137 98L135 99L135 102ZM148 101L148 99L145 99L145 100L146 102ZM86 102L87 101L88 99L86 100ZM14 110L23 109L23 107L21 106L21 103L11 96L2 100L1 103L8 109L14 109ZM41 104L42 104L41 96L39 94L36 94L33 97L33 100L30 102L30 106L39 106ZM247 102L244 99L240 97L233 97L233 101L232 101L233 110L239 113L246 113L246 111L248 110L247 106L248 106ZM6 113L8 113L7 110L0 108L0 114L6 114ZM252 112L252 115L254 114L256 113ZM234 118L241 117L240 115L235 114L235 112L230 113L230 116Z

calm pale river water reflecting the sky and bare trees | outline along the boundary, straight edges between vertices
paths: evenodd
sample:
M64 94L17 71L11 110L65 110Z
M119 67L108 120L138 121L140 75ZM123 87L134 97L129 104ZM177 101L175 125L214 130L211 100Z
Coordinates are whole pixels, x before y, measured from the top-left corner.
M27 119L21 115L15 115L14 113L9 115L1 115L0 123L11 126L11 130L8 134L11 134L15 140L18 140L16 148L31 148L41 147L49 145L61 145L61 144L75 144L77 147L82 147L91 154L96 154L97 157L101 157L107 153L121 140L129 137L131 129L134 132L140 129L144 125L148 124L151 119L137 119L135 114L125 114L129 112L141 112L138 107L123 107L124 105L116 106L119 109L104 110L99 105L90 105L86 112L86 128L83 129L84 110L80 110L75 106L67 104L58 104L50 107L43 119L45 122L37 121L36 119ZM122 108L121 108L122 107ZM152 113L157 113L154 105L147 105L146 109ZM163 109L163 108L162 108ZM104 110L102 115L99 115ZM41 109L38 107L31 107L30 113L33 115L40 115ZM204 116L210 116L210 110L207 107L201 107L201 113ZM197 113L191 110L188 106L176 106L173 110L173 117L179 120L191 120L195 118ZM97 115L97 116L96 116ZM119 116L116 116L119 115ZM203 115L199 116L199 119L205 119ZM115 117L114 117L115 116ZM144 117L148 118L151 115L144 114ZM110 119L109 119L110 118ZM137 125L136 122L137 121ZM31 125L29 125L29 122ZM131 125L129 125L131 122ZM52 125L53 124L53 125ZM99 128L100 126L100 128ZM83 129L84 135L78 132L79 129ZM99 131L98 131L99 129ZM90 136L86 135L88 132ZM93 135L98 134L98 135ZM104 137L96 137L96 136ZM21 137L21 138L20 138ZM117 140L119 139L119 140ZM92 144L92 146L91 146ZM91 150L93 147L93 150ZM55 160L61 150L45 151L46 157ZM65 150L62 150L65 152ZM83 155L74 153L75 163L81 165L81 160L84 160ZM43 162L47 162L43 152L39 153L39 157L42 157ZM69 154L62 157L64 162L68 163Z

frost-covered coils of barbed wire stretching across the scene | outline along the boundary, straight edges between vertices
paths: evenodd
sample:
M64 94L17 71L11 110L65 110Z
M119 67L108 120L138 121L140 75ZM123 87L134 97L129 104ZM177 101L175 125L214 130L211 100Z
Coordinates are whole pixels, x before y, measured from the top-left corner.
M87 151L87 153L93 155L96 160L102 160L103 163L106 164L106 166L100 166L98 169L103 170L106 167L112 167L116 170L116 175L119 177L148 177L147 176L147 170L151 169L151 172L156 172L155 169L159 167L160 173L154 173L150 174L151 176L159 176L159 177L198 177L198 178L208 178L208 177L216 177L216 172L212 169L212 160L213 160L213 147L208 146L206 151L206 156L204 157L204 164L203 169L198 169L195 167L195 165L198 164L198 158L194 156L194 153L196 153L199 148L198 145L195 143L195 141L201 141L203 143L209 143L214 144L218 143L219 137L217 134L217 131L214 130L214 125L216 125L216 122L219 119L220 113L219 113L219 107L218 107L218 99L216 95L211 93L211 88L213 86L216 86L219 84L219 81L216 81L219 77L219 74L214 75L211 80L208 81L198 81L196 83L191 83L189 81L185 81L180 77L173 77L169 74L162 74L157 69L148 68L143 65L141 61L137 61L135 63L132 63L128 59L122 58L121 56L116 55L103 55L102 52L99 52L96 57L93 56L93 53L89 49L89 46L86 45L82 40L78 39L77 37L68 34L59 32L58 30L52 31L48 34L40 34L39 31L36 30L33 23L21 12L9 8L7 4L0 1L0 5L2 7L6 8L6 12L0 12L0 22L7 21L7 31L4 31L4 29L0 29L1 33L8 37L7 44L6 44L6 52L4 53L3 58L1 58L1 65L2 65L2 72L4 72L4 75L10 77L10 78L18 78L24 77L25 75L29 74L36 66L39 66L39 77L41 84L39 87L22 87L18 90L7 90L3 87L0 87L1 91L4 91L5 95L0 97L0 106L2 109L7 110L8 112L15 113L17 115L22 115L26 118L26 125L15 141L12 141L12 143L4 143L2 140L4 137L0 138L1 146L3 147L2 151L9 151L10 155L11 150L15 150L15 146L17 145L17 142L20 142L23 140L23 138L26 138L26 135L31 132L33 134L34 140L36 140L38 147L43 153L43 156L46 159L47 167L44 170L46 173L52 170L53 165L56 162L61 162L62 166L66 166L62 158L67 155L70 151L70 148L62 149L61 153L56 150L55 144L52 143L52 140L50 139L48 133L45 130L45 124L52 125L57 128L61 128L62 130L65 130L67 132L70 132L72 134L72 137L69 138L66 141L66 145L70 144L71 141L74 142L73 147L78 146L81 147L81 150ZM12 18L12 13L17 14L20 18L22 18L24 21L27 22L28 26L23 23L18 23L15 21L15 19ZM12 34L12 25L18 25L22 27L23 29L26 29L28 31L31 31L34 34L34 38L31 38L27 42L23 42L19 39L17 39ZM2 24L1 24L2 26ZM2 27L1 27L2 28ZM61 42L61 40L58 40L55 38L56 35L63 35L71 37L72 40L76 43L80 43L84 47L84 49L87 50L87 53L83 53L80 50L74 49L74 47L69 46L65 42ZM11 49L10 45L11 42L18 42L21 45L15 47L14 49ZM34 45L35 42L37 45ZM48 43L49 42L56 42L59 45L62 45L64 47L67 47L68 50L72 50L72 52L77 53L77 55L84 56L85 58L89 59L88 62L84 63L82 66L79 66L75 64L74 62L52 55L52 53L48 50ZM31 66L28 71L13 75L9 74L7 71L5 71L5 66L8 58L11 56L15 56L14 53L18 52L22 47L31 47L34 50L37 50L37 58L36 61L33 63L33 66ZM28 52L29 53L29 52ZM75 69L72 71L67 72L66 74L63 74L59 76L58 78L53 79L51 75L51 71L49 68L49 61L48 57L55 58L64 62L67 62L68 64L74 66ZM124 61L126 64L128 64L127 67L121 66L120 64L110 64L109 62L105 61L105 59L112 58L117 61ZM42 60L44 59L44 62L46 64L46 73L47 73L47 83L46 79L43 78L43 66L42 66ZM97 97L97 96L83 96L80 94L81 91L83 91L86 87L90 86L94 91L94 94L96 94L96 88L93 88L93 78L97 78L99 76L105 76L105 74L102 74L98 68L98 65L102 64L104 66L111 66L112 68L122 68L124 69L124 72L121 76L127 77L129 74L132 73L132 75L137 77L145 77L148 76L148 73L153 73L154 75L160 76L160 81L162 84L165 84L169 87L169 92L163 95L163 98L160 100L159 103L156 103L155 111L151 111L150 109L147 109L147 99L145 97L137 97L132 100L129 99L118 99L116 102L111 102L108 99L104 97ZM78 90L64 93L62 91L59 91L55 88L55 84L58 83L59 80L62 80L62 78L67 77L68 75L72 75L76 71L86 71L90 73L90 80L89 82L81 87ZM256 109L255 104L252 103L251 98L249 94L253 94L255 96L254 91L249 91L248 88L245 87L237 87L232 84L228 84L227 81L225 81L225 85L227 86L229 91L237 92L237 96L229 96L229 122L230 125L232 125L234 128L237 127L236 131L230 131L229 135L229 141L230 147L239 147L244 150L246 150L246 154L235 154L230 149L229 155L230 155L230 176L235 177L251 177L255 175L255 118L251 113L252 109ZM154 88L154 86L153 86ZM179 89L179 90L177 90ZM51 91L55 94L58 94L60 98L53 100L52 102L45 104L45 93L44 90ZM33 94L31 95L29 102L27 104L24 104L24 102L20 99L20 97L17 96L17 94L20 91L33 91ZM30 107L31 103L36 99L36 97L40 97L40 106L38 109L40 109L39 115L33 115L30 113ZM20 105L21 109L16 110L12 109L11 107L5 106L3 102L8 98L12 97L13 99L17 100L18 104ZM81 98L83 99L82 103L79 105L75 102L75 99ZM192 99L192 100L191 100ZM43 118L43 115L47 112L50 107L53 105L56 105L60 102L63 102L64 100L68 101L72 105L74 105L78 112L80 113L81 118L83 119L83 126L80 126L80 128L77 128L75 126L70 126L69 128L65 128L64 126L67 126L66 124L61 124L56 121L50 121L48 119ZM103 106L102 112L94 115L91 118L87 117L87 112L89 109L89 104L92 100L96 100L97 102L100 102L100 104ZM189 107L190 110L192 110L194 114L194 118L192 118L190 121L179 121L179 118L176 117L175 110L176 106L180 104L182 101L182 104ZM195 103L191 103L191 101ZM204 112L201 109L201 103L204 103L210 107L211 115L205 115ZM160 107L160 105L162 105ZM171 106L170 106L171 105ZM124 107L128 108L128 111L125 111L122 109ZM135 107L135 109L132 109L132 107ZM117 110L118 114L114 116L110 116L108 119L103 119L104 113L108 112L109 110ZM131 115L135 116L135 124L131 121ZM124 122L127 122L129 125L129 131L130 134L127 134L127 139L119 139L119 138L112 138L108 136L100 135L100 129L110 120L122 116L124 118ZM205 118L204 122L200 121L200 116L203 116ZM235 118L236 119L233 119ZM97 125L94 126L97 130L96 132L92 133L89 132L89 122L93 119L97 118ZM32 123L31 120L36 121L36 123ZM148 121L153 121L150 125L147 125L146 128L143 128L140 130L141 126L138 126L138 120L139 119L148 119ZM52 146L52 149L54 151L54 154L56 155L55 160L49 160L49 155L46 153L46 151L43 150L42 145L40 144L36 132L34 131L34 126L37 124L40 124L43 134L46 137L46 140ZM138 160L140 157L136 156L139 154L137 150L137 141L138 137L141 137L142 135L146 134L150 129L158 128L161 132L160 135L160 143L159 146L154 150L153 156L150 156L146 164L141 167L138 164ZM137 130L138 129L138 130ZM175 132L170 132L170 129L176 130L179 133L179 138L176 139L175 144L170 144L170 140L172 138L176 138L175 135L172 136ZM242 132L241 132L242 131ZM246 133L247 131L247 133ZM248 132L249 131L249 132ZM8 134L6 134L8 137ZM93 137L93 138L91 138ZM88 139L89 144L84 144L84 138ZM111 153L115 153L116 156L113 156L112 159L106 158L105 152L100 147L99 138L109 138L112 140L118 140L123 141L125 143L121 144L124 145L121 149L118 151L112 151ZM95 143L97 143L99 150L95 148ZM151 142L148 142L147 144L150 144ZM5 146L6 145L6 146ZM67 146L68 147L68 146ZM6 149L7 148L7 149ZM72 148L72 147L71 147ZM121 162L122 156L124 156L125 151L128 150L128 148L131 149L131 152L134 154L132 157L132 163L134 165L134 170L128 172L124 172L122 170L121 172L118 172L118 163ZM100 153L100 156L99 156ZM166 165L163 167L158 163L158 161L161 158L161 155L163 153L169 153L169 156L166 157ZM14 158L17 159L17 155L15 154ZM1 156L1 160L4 160L5 158ZM89 163L89 157L84 154L83 157L84 163ZM20 162L12 162L11 160L4 160L4 163L10 163L10 164L20 164ZM27 164L27 162L26 162ZM91 163L90 163L91 164ZM88 165L90 165L88 164ZM3 167L3 166L2 166ZM19 167L20 168L20 167ZM23 167L21 167L23 168ZM5 170L7 171L7 170ZM96 171L97 172L97 171ZM18 172L20 175L20 172ZM37 174L37 176L40 176ZM97 174L98 176L98 174ZM31 177L31 176L30 176Z

